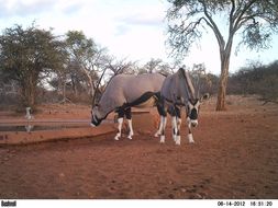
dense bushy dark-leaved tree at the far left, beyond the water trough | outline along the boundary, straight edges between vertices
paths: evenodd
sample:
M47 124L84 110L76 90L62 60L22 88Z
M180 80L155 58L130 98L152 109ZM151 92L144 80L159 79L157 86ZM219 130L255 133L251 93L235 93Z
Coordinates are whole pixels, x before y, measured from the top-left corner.
M7 28L0 36L0 68L9 79L16 80L22 90L23 106L35 106L36 88L65 59L63 42L52 31L32 25Z

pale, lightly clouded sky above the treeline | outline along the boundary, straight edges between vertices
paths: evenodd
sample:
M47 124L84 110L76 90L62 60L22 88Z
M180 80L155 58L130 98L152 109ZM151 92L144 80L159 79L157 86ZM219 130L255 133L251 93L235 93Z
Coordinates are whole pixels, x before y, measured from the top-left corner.
M165 46L168 7L166 0L0 0L0 32L14 24L26 27L35 22L41 28L53 28L55 35L82 31L119 59L144 65L151 58L159 58L171 63L174 59ZM277 60L278 35L273 37L271 45L259 53L246 48L237 55L233 51L230 72L252 61ZM204 33L184 59L189 68L193 63L204 63L208 72L220 73L218 44L212 34Z

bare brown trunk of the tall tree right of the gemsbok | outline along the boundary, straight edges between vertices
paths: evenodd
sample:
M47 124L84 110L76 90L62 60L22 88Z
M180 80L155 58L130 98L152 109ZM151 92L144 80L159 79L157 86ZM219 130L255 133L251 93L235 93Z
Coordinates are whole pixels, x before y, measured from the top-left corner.
M218 102L216 111L226 111L226 84L229 77L229 66L230 66L230 55L231 50L223 54L221 58L221 76L219 81L219 91L218 91Z

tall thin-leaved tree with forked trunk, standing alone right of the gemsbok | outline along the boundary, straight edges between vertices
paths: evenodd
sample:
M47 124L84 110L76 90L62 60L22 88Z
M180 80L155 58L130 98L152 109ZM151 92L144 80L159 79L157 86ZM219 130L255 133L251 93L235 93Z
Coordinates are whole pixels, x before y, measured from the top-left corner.
M241 34L242 42L249 49L269 47L271 34L278 32L277 0L168 0L168 43L174 55L189 53L191 45L201 38L205 28L216 37L221 77L218 90L216 111L225 109L226 84L233 41ZM221 32L216 22L226 18L227 31ZM223 34L227 34L226 38Z

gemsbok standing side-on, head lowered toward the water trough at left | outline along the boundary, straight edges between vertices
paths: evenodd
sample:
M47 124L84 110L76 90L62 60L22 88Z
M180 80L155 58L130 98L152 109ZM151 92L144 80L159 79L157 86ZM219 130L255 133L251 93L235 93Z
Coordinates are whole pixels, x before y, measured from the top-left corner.
M165 80L162 73L145 74L118 74L108 83L100 101L93 104L91 111L91 126L98 126L111 113L118 113L118 132L114 137L119 140L122 132L123 118L127 119L129 139L134 135L132 127L131 107L154 107L159 115L166 115L160 105L160 89ZM93 102L94 103L94 102Z

